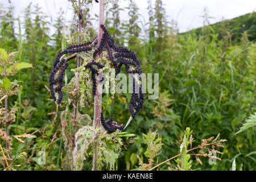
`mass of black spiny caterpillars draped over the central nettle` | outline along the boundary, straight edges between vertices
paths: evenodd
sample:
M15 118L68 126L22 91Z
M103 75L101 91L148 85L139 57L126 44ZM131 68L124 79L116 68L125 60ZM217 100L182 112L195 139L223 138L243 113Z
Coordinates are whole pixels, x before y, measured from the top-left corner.
M111 61L113 67L115 68L115 76L117 76L121 72L122 65L125 65L126 73L135 74L137 73L139 76L142 74L142 70L140 67L140 62L137 59L135 53L127 48L119 47L114 45L114 39L110 36L109 32L106 30L105 26L101 24L101 30L103 31L102 39L100 45L93 52L93 61L85 65L85 68L89 68L92 71L92 80L93 80L93 95L96 94L96 76L98 76L99 72L97 68L104 68L104 65L97 63L96 57L100 55L102 51L106 51ZM58 94L57 104L60 104L63 99L63 77L64 72L68 67L68 61L77 57L76 53L79 52L88 52L92 51L94 47L97 46L98 40L94 38L92 42L80 44L80 45L73 45L69 46L64 51L60 52L59 55L56 57L55 62L53 64L53 71L49 76L49 85L51 90L52 98L56 101L55 93ZM75 53L72 56L67 57L66 59L61 59L64 55L68 53ZM93 67L96 66L96 67ZM56 77L56 78L55 78ZM102 80L103 81L103 78ZM129 110L131 116L134 118L139 110L142 109L143 102L144 102L144 94L142 92L142 84L139 84L141 78L135 80L133 77L133 94L130 100ZM56 85L56 88L54 88ZM135 93L135 87L139 88L139 93ZM110 122L111 121L111 122ZM111 127L110 127L111 124ZM113 126L112 126L113 125ZM108 122L102 122L102 126L110 132L117 130L119 125L113 124L113 119L109 119ZM122 130L122 127L119 127L119 130Z

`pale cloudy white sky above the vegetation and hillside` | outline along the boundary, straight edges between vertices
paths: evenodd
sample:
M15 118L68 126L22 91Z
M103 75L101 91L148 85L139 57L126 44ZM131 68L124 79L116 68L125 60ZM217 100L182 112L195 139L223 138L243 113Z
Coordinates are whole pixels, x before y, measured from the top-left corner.
M48 21L53 22L56 19L60 8L65 12L65 19L71 20L73 10L71 3L68 0L10 0L15 7L15 16L23 16L24 8L30 2L32 5L38 4L42 7L42 11L48 16ZM155 3L155 0L151 0ZM5 6L9 5L9 0L0 0ZM135 0L139 7L139 13L142 22L148 21L147 0ZM204 7L208 8L209 23L216 23L223 19L232 19L237 16L252 13L256 10L256 0L163 0L164 8L166 9L166 19L168 22L175 20L179 32L185 32L193 28L203 26L204 19L201 17L204 14ZM127 7L129 0L119 0L120 7ZM90 13L93 15L98 13L98 4L93 2ZM110 5L111 6L111 5ZM120 14L121 19L128 19L127 13ZM96 24L98 26L98 24Z

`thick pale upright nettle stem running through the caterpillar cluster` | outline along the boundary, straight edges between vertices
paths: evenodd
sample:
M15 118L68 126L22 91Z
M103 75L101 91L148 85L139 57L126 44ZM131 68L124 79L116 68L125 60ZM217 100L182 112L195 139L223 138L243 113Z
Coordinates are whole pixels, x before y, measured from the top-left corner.
M98 28L98 45L101 44L102 30L101 24L104 24L104 0L100 0L100 13L99 13L99 28ZM101 59L102 53L98 56ZM96 79L96 95L94 96L94 118L93 126L95 129L100 128L101 124L101 95L102 95L102 85L100 80ZM99 154L99 143L98 143L98 131L94 130L93 133L93 171L98 170L98 154Z

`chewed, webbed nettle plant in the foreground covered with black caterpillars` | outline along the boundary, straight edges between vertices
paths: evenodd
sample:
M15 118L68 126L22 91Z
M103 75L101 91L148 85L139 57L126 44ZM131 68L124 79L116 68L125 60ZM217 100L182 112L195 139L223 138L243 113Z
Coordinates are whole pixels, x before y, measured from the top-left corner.
M86 28L82 30L81 8L85 3L88 2L72 1L79 18L78 26L73 26L75 32L68 35L63 44L69 44L69 46L64 46L63 51L57 55L53 71L49 76L49 91L57 107L57 112L52 114L56 116L61 113L64 148L67 149L62 161L63 168L81 170L84 167L84 160L92 155L93 170L101 169L105 164L107 167L109 166L109 169L114 169L114 164L121 151L121 137L134 136L134 134L121 131L129 125L131 119L135 118L143 106L144 94L140 78L142 70L135 53L125 47L115 46L115 40L104 26L106 1L100 1L98 35L88 41ZM72 69L75 72L75 77L67 83L65 71L69 61L73 59L77 59L77 68ZM125 66L127 74L133 75L133 93L129 106L131 117L126 126L119 125L113 117L106 121L101 111L102 85L105 81L112 82L114 84L112 94L114 94L116 78L121 72L122 65ZM65 95L63 92L68 94L67 101L63 99ZM88 103L87 100L90 96L94 96L93 126L90 125L92 119L89 115L80 114L78 111L79 107L84 107ZM69 110L71 104L74 108L73 114ZM65 110L58 111L62 105L66 105ZM58 156L58 164L59 158ZM65 164L68 167L64 167Z

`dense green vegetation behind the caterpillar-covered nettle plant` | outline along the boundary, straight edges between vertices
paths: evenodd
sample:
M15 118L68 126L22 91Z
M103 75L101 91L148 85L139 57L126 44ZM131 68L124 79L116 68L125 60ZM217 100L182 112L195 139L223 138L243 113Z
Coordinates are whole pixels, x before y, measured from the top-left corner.
M123 138L114 169L150 169L182 152L182 143L193 141L195 147L204 142L203 139L220 134L227 142L222 143L224 148L216 146L221 151L217 153L221 160L216 164L209 163L201 147L202 151L195 151L186 159L188 166L177 158L158 169L230 170L236 159L236 169L255 170L255 127L235 133L245 123L245 118L256 112L256 13L209 25L209 15L205 11L203 27L177 34L175 22L165 19L166 12L160 0L148 1L150 18L146 24L141 21L135 1L130 1L126 9L120 9L117 1L108 8L106 26L116 44L133 49L141 60L143 72L159 73L160 79L158 100L146 99L143 109L127 127L126 131L136 136ZM60 116L55 118L51 114L56 108L45 87L53 60L61 51L63 40L67 39L63 34L63 12L60 11L55 22L50 23L38 5L32 4L24 10L20 15L23 21L14 17L13 11L11 5L0 6L0 47L10 52L18 51L15 60L31 63L33 68L22 69L10 78L20 87L17 96L8 100L10 108L15 104L18 108L9 134L36 136L23 143L13 139L13 169L42 169L43 164L38 162L40 151L47 154L44 169L67 169ZM130 19L123 21L120 11L126 11ZM84 9L84 28L92 26L88 12ZM73 23L76 22L74 16ZM55 27L55 34L49 34L50 27ZM145 27L148 28L144 30ZM90 38L96 35L93 28L89 32ZM76 65L76 61L72 61L69 68L76 68ZM68 78L73 75L71 71L67 74ZM115 95L110 102L106 94L102 105L108 115L125 123L130 117L127 114L129 99L129 94ZM67 97L64 96L64 100ZM92 103L93 98L80 113L93 117ZM186 130L187 127L190 130ZM191 134L193 140L189 140ZM0 143L5 148L5 140L1 139ZM6 169L2 152L0 156L0 169ZM92 169L91 161L91 158L86 160L84 169Z

